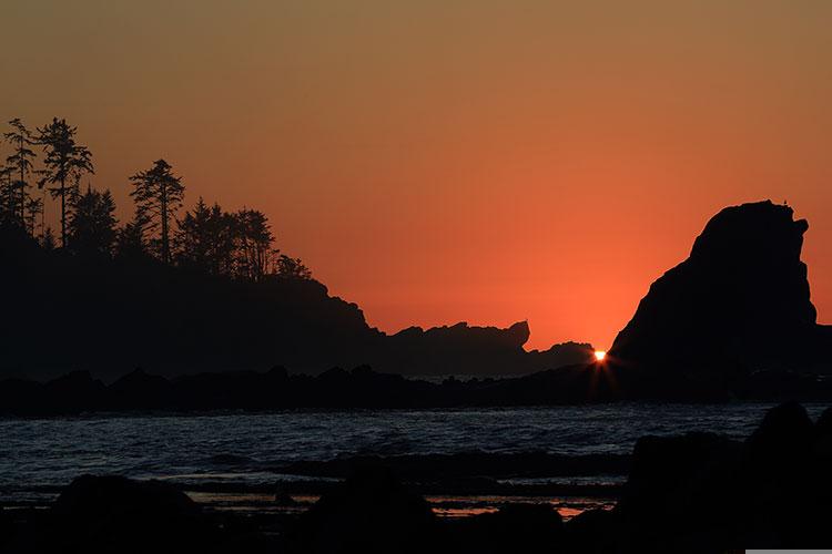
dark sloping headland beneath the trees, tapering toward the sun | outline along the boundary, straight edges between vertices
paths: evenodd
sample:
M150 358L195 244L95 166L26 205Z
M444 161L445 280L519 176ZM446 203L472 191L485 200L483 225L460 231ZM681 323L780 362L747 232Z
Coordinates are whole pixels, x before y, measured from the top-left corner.
M524 350L526 322L457 324L386 335L321 283L233 280L151 257L47 250L0 228L0 376L53 378L88 370L114 379L134 367L164 376L264 370L318 373L372 365L388 373L521 375L586 362L590 345ZM13 294L11 294L13 291Z

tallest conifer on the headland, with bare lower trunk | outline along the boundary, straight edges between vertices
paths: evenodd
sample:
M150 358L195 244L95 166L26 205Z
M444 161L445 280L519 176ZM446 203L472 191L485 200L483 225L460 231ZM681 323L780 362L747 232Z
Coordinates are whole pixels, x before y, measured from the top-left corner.
M67 120L52 119L52 123L38 129L38 143L43 146L45 158L43 178L39 186L47 184L52 198L61 198L61 246L68 240L68 208L78 193L78 183L84 173L94 173L92 154L75 143L78 127L67 124Z

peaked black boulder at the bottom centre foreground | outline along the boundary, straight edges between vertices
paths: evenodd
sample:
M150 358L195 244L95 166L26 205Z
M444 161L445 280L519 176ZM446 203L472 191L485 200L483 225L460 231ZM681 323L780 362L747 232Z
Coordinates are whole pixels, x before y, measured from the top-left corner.
M294 552L437 552L438 521L427 502L384 469L364 469L324 494L291 537Z

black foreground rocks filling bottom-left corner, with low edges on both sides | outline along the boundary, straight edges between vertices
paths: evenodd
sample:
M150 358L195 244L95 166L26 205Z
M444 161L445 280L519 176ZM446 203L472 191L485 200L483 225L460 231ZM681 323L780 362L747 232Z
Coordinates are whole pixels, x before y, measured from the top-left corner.
M0 511L3 554L281 552L234 514L205 513L173 485L83 475L49 510Z

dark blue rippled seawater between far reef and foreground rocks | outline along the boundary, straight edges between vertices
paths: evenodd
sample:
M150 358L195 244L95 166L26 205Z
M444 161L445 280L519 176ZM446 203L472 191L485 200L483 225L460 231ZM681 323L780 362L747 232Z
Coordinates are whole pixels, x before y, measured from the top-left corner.
M0 420L4 500L68 484L83 473L184 485L256 485L274 468L355 455L547 452L628 454L639 437L711 431L748 437L771 404L90 414ZM823 404L806 404L816 418Z

